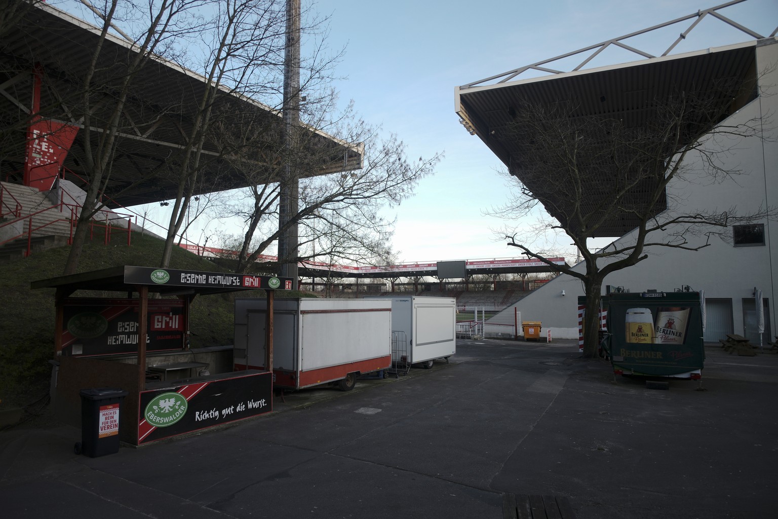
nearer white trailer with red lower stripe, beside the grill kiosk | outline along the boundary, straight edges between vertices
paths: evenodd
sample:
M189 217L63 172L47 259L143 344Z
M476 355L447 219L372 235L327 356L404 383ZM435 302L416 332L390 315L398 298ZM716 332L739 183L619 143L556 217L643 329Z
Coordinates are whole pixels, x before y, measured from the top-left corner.
M265 299L235 300L235 370L265 369ZM351 390L362 373L391 367L388 300L276 299L273 384L300 389L338 382Z

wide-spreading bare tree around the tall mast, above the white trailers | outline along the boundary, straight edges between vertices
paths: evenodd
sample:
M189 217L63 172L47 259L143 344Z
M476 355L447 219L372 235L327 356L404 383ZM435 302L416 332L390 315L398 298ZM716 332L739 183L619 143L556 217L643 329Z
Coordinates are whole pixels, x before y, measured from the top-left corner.
M288 226L300 226L300 244L294 258L279 262L324 258L330 262L380 262L391 256L388 241L393 222L380 216L380 208L398 205L413 194L415 184L432 174L440 155L429 159L408 160L405 145L394 135L381 139L376 128L363 121L343 117L349 127L338 135L348 135L348 142L362 142L363 168L350 172L309 177L300 180L296 212L285 225L273 226L279 208L279 184L262 184L251 188L249 203L240 211L247 226L237 265L239 272L251 268L260 254L266 254ZM300 142L298 140L297 142ZM304 144L303 139L303 146ZM322 155L296 153L296 170L321 167Z

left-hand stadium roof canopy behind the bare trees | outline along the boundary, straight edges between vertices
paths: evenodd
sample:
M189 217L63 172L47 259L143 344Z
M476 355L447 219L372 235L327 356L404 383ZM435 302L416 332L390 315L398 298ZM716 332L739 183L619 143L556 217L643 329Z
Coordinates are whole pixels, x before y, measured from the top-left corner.
M75 18L47 3L30 7L18 23L4 27L0 39L0 122L4 128L2 142L2 174L21 178L25 158L26 121L30 119L30 97L33 92L33 69L43 70L40 111L43 117L54 121L75 124L81 129L65 160L65 178L86 190L88 174L84 167L85 139L98 145L100 132L85 132L79 121L78 102L80 85L89 70L100 29ZM109 33L104 51L100 54L96 69L111 71L128 61L135 53L130 43ZM96 110L93 120L101 121L113 107L111 92L121 75L110 76L94 96L103 96L93 103ZM154 57L138 73L132 95L124 108L126 128L119 134L117 152L110 167L105 193L110 197L107 205L139 205L159 202L175 197L174 164L170 157L184 146L183 135L188 135L195 114L197 101L206 86L205 78L173 62ZM217 101L223 114L239 114L230 120L239 125L240 114L256 114L262 122L268 152L251 163L225 160L220 156L215 142L205 145L205 185L196 194L223 191L247 185L242 170L265 174L266 181L275 181L272 172L279 169L279 153L282 149L282 114L257 100L229 93ZM321 163L302 172L303 177L354 170L362 167L363 147L336 139L315 128L306 128L306 150L310 155L322 156ZM239 131L242 128L239 128ZM100 130L93 124L93 130ZM269 135L269 137L268 137Z

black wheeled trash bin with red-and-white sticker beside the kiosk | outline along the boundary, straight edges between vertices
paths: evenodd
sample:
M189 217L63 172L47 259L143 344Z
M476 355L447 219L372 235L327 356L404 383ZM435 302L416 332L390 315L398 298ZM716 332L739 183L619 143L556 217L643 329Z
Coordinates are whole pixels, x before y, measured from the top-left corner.
M82 389L81 443L75 444L75 454L91 458L119 451L119 415L121 401L128 395L118 387Z

